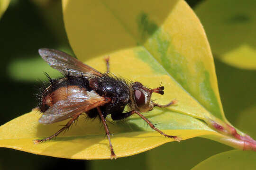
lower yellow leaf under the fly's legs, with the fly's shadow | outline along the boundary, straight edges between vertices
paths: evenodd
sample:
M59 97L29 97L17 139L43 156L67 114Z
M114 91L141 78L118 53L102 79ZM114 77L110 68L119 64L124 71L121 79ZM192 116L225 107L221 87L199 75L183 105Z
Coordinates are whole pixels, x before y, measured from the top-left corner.
M52 125L38 123L41 114L32 111L13 119L0 127L0 147L8 147L29 153L49 155L71 159L106 159L110 158L109 143L101 128L100 121L83 121L81 117L77 125L56 139L42 144L34 144L33 140L53 134L64 125L64 122ZM159 133L133 131L133 124L117 126L110 124L112 144L118 157L133 155L152 149L160 144L171 142L173 139L160 136ZM165 130L168 134L179 134L183 139L205 134L215 134L206 130Z

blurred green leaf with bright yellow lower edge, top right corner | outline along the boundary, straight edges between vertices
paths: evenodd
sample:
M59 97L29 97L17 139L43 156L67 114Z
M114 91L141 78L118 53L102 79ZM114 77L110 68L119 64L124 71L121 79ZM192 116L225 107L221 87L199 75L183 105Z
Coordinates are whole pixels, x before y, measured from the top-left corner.
M205 0L195 8L218 59L256 69L255 7L255 0Z

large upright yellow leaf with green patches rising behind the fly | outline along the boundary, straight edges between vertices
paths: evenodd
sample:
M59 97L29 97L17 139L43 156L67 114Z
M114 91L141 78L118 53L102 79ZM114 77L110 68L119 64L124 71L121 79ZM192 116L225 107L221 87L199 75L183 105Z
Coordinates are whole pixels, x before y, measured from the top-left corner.
M150 87L163 80L166 94L159 102L176 98L175 110L200 119L210 111L225 119L210 47L192 9L183 0L134 4L63 0L65 29L77 58L105 72L102 59L110 55L115 75Z

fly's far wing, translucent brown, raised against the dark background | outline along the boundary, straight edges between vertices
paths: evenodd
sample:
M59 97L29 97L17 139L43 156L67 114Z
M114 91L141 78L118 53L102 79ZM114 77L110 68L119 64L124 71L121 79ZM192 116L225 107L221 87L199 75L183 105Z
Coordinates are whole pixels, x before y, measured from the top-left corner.
M52 68L59 70L62 74L68 70L72 76L81 76L81 73L89 77L92 75L101 76L101 73L96 69L83 64L65 52L46 48L39 49L38 52Z

